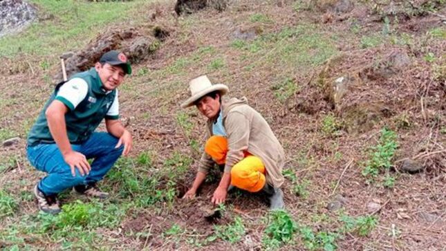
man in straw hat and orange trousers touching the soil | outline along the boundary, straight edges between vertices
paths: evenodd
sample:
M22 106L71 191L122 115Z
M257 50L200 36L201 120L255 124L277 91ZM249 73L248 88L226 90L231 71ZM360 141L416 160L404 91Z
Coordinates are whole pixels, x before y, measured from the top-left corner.
M224 203L229 187L248 192L266 192L270 209L284 207L281 174L285 154L268 122L248 105L246 97L222 102L224 84L212 84L205 76L189 82L189 97L181 107L195 105L207 120L207 141L192 187L183 198L194 198L207 172L216 163L223 176L212 203Z

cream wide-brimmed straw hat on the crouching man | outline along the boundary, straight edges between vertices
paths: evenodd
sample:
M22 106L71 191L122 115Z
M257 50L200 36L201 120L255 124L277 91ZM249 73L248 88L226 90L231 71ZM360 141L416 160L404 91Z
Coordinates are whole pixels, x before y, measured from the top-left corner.
M189 82L189 90L191 93L191 97L189 97L183 104L181 104L182 108L186 108L194 105L194 102L200 100L201 97L205 96L207 93L212 93L213 91L219 91L220 95L225 95L229 89L224 84L212 84L211 81L206 77L206 75L202 75L200 77L196 77Z

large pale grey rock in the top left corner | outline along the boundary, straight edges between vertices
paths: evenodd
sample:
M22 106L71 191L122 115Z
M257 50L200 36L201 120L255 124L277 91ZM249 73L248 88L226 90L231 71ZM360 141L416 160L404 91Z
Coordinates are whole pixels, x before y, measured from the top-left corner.
M37 18L37 10L22 0L0 0L0 37L17 32Z

